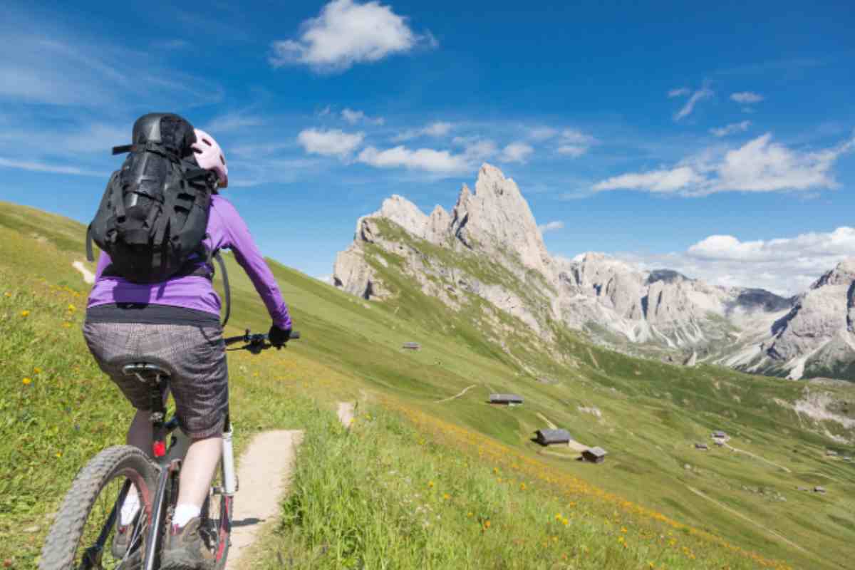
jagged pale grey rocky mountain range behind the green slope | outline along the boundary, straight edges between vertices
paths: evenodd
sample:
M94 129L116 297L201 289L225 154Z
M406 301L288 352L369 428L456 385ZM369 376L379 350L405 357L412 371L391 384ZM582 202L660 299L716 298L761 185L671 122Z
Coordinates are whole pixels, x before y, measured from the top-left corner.
M396 195L360 218L333 282L382 300L393 295L382 277L391 270L454 310L481 298L547 344L558 321L616 350L690 366L712 361L801 378L817 361L824 370L855 358L855 260L787 299L641 271L598 253L551 257L516 183L488 164L451 212L436 206L427 215Z

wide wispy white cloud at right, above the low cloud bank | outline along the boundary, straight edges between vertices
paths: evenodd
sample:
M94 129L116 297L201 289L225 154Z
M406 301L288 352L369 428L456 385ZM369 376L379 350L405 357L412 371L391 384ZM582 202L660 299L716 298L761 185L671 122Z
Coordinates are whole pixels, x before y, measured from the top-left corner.
M708 150L673 168L627 173L593 185L594 191L643 190L705 196L722 191L805 191L836 186L831 167L855 146L855 138L834 148L798 152L771 141L769 133L716 156Z

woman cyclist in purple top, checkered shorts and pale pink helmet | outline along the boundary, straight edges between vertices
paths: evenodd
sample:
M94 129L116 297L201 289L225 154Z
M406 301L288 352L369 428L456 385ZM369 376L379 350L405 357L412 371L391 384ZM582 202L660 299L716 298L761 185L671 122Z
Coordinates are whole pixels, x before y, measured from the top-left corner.
M226 158L208 133L195 129L192 150L199 167L213 171L218 187L228 185ZM229 249L249 275L273 320L269 341L287 342L291 317L273 273L252 240L244 220L219 194L211 199L209 251ZM163 283L139 285L109 272L110 259L98 259L95 285L89 295L83 328L86 344L104 373L137 409L127 443L150 454L150 392L139 380L124 375L128 361L158 361L171 373L176 415L191 438L180 473L180 491L162 553L163 570L207 570L214 553L199 532L200 513L208 497L222 448L228 403L228 372L220 325L220 298L209 277L176 276ZM107 269L107 271L105 271ZM213 274L213 267L210 267ZM121 557L139 513L137 493L128 494L117 521L112 549Z

